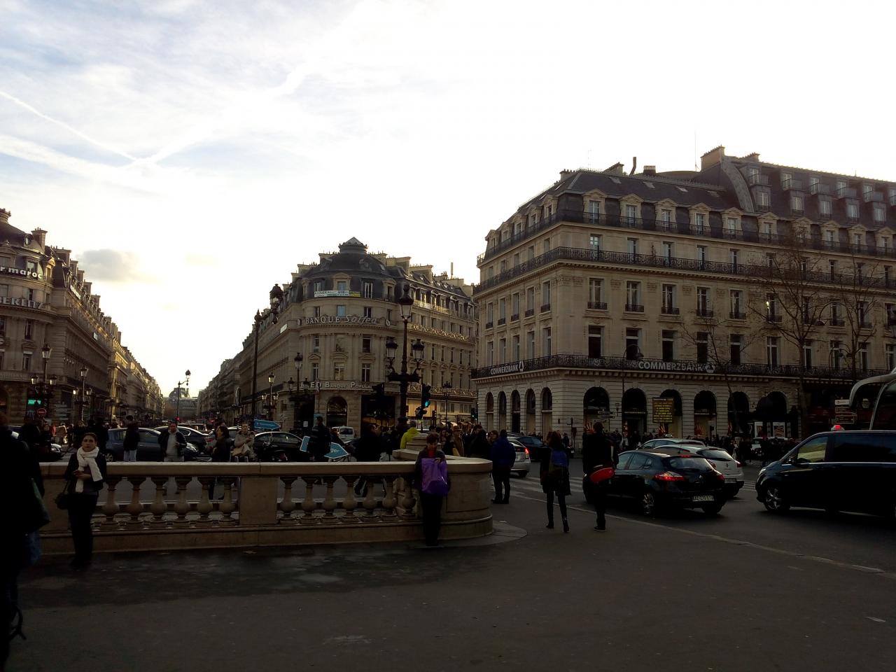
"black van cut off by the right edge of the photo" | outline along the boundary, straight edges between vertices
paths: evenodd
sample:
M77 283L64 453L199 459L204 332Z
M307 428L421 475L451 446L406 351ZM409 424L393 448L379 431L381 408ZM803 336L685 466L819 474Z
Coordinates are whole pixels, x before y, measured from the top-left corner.
M896 516L896 432L823 432L759 472L771 513L806 506Z

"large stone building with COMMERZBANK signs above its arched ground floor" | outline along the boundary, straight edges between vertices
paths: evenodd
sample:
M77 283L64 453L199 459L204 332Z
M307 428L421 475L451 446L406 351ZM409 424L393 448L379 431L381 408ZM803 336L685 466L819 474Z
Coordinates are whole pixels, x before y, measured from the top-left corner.
M480 418L806 435L896 366L896 183L729 157L564 171L478 258Z

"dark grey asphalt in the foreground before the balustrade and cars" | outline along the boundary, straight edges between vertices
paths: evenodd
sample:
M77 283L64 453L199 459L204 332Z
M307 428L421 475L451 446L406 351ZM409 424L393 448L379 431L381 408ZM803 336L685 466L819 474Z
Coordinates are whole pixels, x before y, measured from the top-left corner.
M714 518L614 509L605 534L573 504L564 534L544 529L533 477L494 513L501 536L431 550L121 554L86 574L51 558L22 581L29 640L10 669L865 672L896 659L896 530L882 521L773 517L744 492Z

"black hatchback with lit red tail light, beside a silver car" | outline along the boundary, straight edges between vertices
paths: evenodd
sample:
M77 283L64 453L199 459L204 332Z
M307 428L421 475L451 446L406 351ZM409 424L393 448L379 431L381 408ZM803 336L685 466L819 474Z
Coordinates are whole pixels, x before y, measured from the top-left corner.
M627 451L619 455L607 495L637 503L646 515L668 508L699 508L714 515L725 504L724 485L721 472L698 455L661 449ZM591 482L587 477L582 486L586 497L590 497Z

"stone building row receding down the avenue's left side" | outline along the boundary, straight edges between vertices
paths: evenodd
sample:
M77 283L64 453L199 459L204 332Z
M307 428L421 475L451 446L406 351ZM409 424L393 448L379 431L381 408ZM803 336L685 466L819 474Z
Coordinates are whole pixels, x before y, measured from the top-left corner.
M13 227L10 216L0 209L0 409L11 422L125 409L156 417L159 385L122 345L71 251L47 246L43 229ZM50 381L47 400L40 384Z

